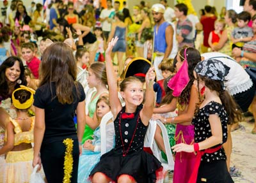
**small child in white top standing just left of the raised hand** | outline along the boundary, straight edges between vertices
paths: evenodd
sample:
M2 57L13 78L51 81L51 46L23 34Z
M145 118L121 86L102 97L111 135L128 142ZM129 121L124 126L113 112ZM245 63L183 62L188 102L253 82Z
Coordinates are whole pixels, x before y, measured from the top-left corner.
M104 39L103 36L103 31L101 27L95 27L94 28L94 34L97 38L99 48L97 50L97 53L95 55L95 62L104 62L105 61L105 52L104 48L106 47L106 40Z

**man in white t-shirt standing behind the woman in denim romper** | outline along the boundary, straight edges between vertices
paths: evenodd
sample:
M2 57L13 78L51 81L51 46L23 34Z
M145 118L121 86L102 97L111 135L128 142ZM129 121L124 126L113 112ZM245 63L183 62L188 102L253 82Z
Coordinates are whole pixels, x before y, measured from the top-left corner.
M111 12L115 11L114 8L112 8L112 1L108 0L107 1L107 8L101 11L100 13L100 22L102 22L102 31L104 38L108 40L109 33L111 31L111 18L109 15Z

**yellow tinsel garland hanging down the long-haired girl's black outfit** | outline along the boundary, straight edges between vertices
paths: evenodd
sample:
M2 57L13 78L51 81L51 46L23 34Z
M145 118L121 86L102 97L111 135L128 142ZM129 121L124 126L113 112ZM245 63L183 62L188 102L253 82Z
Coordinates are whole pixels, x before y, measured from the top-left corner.
M63 143L66 145L65 159L64 159L64 177L63 183L70 183L71 173L73 171L73 140L71 138L66 138Z

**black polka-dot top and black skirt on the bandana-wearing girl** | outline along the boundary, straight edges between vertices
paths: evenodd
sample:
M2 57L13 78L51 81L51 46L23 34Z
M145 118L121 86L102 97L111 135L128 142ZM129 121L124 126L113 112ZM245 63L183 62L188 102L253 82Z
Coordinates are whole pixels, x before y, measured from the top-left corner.
M225 108L215 101L211 101L203 108L200 108L193 118L192 124L195 126L195 143L202 142L212 136L209 115L218 115L221 121L223 142L211 147L215 148L227 142L228 122L228 115ZM234 182L227 171L226 154L223 147L216 152L211 154L205 153L202 156L197 182Z

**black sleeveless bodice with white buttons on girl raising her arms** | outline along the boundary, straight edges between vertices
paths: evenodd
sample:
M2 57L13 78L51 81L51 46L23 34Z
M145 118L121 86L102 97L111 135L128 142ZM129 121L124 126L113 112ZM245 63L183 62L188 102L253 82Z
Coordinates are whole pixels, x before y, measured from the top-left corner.
M140 105L137 107L136 112L134 113L134 118L132 119L121 119L121 132L122 132L122 139L120 136L120 128L119 128L119 120L120 120L120 113L125 112L125 108L122 108L122 110L118 113L114 125L115 125L115 152L118 154L123 154L124 150L128 149L132 136L134 135L134 138L132 140L132 143L129 147L129 152L127 154L131 154L132 152L138 152L140 150L143 150L143 144L144 144L144 138L147 132L147 126L141 122L140 119L140 110L142 109L143 105ZM136 128L136 123L138 120L138 126ZM134 133L134 130L136 128L136 132ZM123 143L124 148L123 148Z

